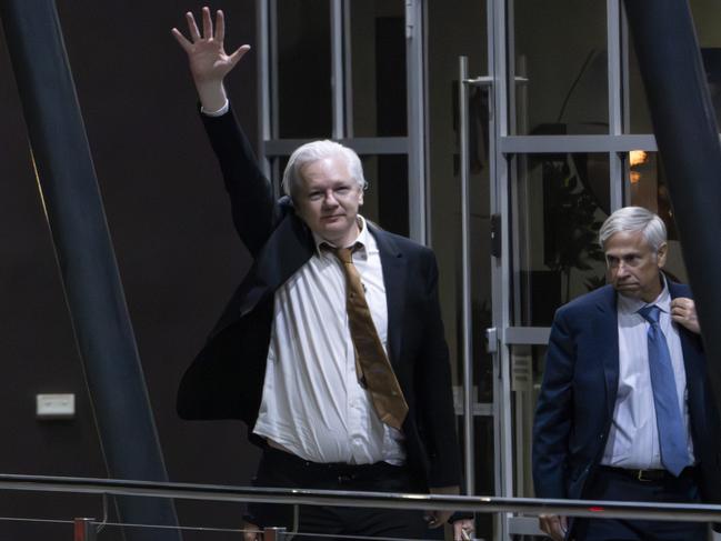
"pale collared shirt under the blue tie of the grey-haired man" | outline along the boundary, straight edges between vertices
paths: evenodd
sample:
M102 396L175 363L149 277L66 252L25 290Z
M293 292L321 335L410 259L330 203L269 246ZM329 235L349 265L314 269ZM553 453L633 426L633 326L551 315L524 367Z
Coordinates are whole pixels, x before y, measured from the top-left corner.
M649 369L649 322L638 313L645 304L641 300L618 294L619 388L602 464L630 469L663 469ZM687 447L693 460L683 351L679 330L671 319L671 295L665 277L661 294L650 304L661 309L659 324L671 353Z

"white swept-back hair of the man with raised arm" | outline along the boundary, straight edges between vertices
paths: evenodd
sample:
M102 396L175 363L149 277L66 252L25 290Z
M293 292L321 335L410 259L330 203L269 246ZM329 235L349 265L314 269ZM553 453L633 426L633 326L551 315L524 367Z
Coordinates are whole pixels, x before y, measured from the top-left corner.
M363 177L363 167L361 166L360 158L356 151L326 139L302 144L290 154L290 159L286 166L286 171L283 172L282 181L286 194L293 198L298 192L298 187L302 182L301 171L306 166L318 160L337 156L340 156L346 160L351 178L358 183L361 190L364 190L367 182Z

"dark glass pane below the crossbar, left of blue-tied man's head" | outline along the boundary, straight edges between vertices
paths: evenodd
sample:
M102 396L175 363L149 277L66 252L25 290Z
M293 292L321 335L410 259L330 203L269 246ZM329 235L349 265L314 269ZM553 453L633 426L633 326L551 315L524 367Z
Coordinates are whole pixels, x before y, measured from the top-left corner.
M511 321L549 327L558 307L604 283L597 236L610 209L609 158L530 154L513 162Z

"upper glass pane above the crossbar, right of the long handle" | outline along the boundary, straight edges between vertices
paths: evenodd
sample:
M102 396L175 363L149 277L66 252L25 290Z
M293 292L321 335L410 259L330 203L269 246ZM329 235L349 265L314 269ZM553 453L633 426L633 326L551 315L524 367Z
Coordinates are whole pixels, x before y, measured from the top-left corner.
M605 2L515 0L513 134L608 133ZM509 73L513 67L509 66Z

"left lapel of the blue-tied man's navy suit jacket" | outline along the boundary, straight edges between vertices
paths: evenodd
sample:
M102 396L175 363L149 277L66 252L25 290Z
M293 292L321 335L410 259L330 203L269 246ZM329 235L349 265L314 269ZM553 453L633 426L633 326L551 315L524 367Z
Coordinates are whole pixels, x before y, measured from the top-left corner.
M595 304L599 313L593 331L597 337L595 347L603 362L608 419L612 419L619 388L619 313L615 291L610 285L607 288Z

